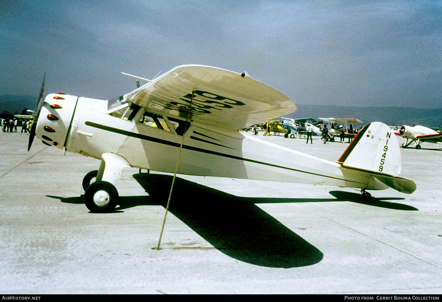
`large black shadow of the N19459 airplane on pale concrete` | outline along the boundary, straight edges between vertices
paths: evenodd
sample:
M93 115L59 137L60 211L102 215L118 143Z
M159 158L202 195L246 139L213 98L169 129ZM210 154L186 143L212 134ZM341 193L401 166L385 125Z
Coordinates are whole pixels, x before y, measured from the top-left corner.
M115 212L139 205L166 207L172 176L134 174L149 196L120 196ZM250 198L234 196L195 182L175 179L169 211L222 253L246 263L265 267L294 268L316 264L323 253L256 204L351 201L382 208L417 211L416 208L361 194L331 191L335 198ZM61 198L82 204L81 197Z

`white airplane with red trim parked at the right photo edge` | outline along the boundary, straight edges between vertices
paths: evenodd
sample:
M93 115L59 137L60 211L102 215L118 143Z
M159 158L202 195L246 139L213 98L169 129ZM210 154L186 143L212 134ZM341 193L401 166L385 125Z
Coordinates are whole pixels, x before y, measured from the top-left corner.
M395 132L395 134L407 139L407 141L402 144L403 148L408 147L411 143L415 143L416 149L420 149L420 144L423 142L442 144L441 133L419 125L414 127L404 125L400 127L399 132ZM409 143L408 140L410 140Z

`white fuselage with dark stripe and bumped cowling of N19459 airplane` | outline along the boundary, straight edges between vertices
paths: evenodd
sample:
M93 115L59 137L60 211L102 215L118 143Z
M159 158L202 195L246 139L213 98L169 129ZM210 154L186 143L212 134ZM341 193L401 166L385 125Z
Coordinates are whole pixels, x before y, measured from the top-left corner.
M369 174L347 170L336 162L238 131L193 121L186 125L185 118L146 112L122 98L107 101L63 95L64 100L54 99L57 96L46 97L36 135L47 144L95 159L110 152L122 156L130 166L173 173L184 135L179 174L388 188ZM49 114L59 120L51 121ZM54 132L47 132L47 127Z

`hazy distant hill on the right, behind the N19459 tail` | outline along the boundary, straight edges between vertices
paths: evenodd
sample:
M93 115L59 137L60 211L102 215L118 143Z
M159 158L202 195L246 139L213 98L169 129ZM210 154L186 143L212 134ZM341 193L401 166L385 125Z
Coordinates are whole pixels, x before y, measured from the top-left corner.
M303 104L297 104L296 107L297 111L283 117L294 119L312 117L316 120L318 117L353 117L363 121L361 126L373 121L380 121L389 126L422 125L425 127L442 127L442 108L345 107Z

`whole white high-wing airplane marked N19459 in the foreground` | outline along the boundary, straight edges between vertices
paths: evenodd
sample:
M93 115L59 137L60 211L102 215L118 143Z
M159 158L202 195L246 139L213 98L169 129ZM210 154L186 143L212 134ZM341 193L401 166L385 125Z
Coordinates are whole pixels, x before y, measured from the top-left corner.
M47 145L101 160L99 170L83 180L84 203L92 212L118 204L115 185L124 167L173 173L180 150L178 174L352 187L367 199L366 190L416 189L399 177L399 144L379 122L363 128L337 162L238 132L296 110L286 95L246 73L183 65L111 100L55 93L42 102L42 93L28 148L38 136Z

